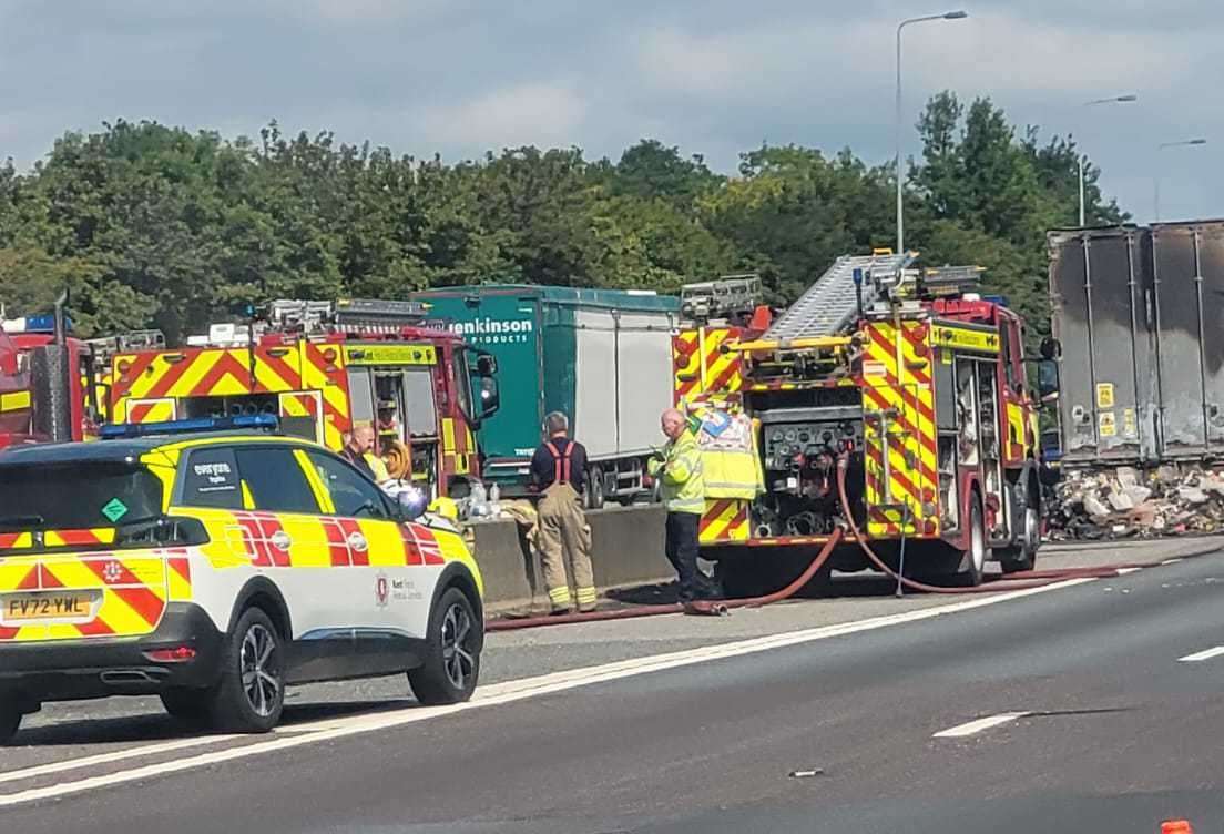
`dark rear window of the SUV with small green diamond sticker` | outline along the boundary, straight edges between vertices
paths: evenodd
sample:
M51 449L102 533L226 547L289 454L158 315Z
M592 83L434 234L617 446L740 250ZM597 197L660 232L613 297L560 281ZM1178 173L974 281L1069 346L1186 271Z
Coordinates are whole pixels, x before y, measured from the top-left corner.
M162 514L162 481L120 460L0 467L0 530L115 527Z

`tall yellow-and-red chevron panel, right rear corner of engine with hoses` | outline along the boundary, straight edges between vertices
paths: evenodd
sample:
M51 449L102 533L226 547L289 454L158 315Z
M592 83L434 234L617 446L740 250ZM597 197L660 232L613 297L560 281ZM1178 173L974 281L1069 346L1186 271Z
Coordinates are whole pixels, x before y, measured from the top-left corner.
M860 388L868 534L931 535L938 512L928 517L925 511L935 507L939 475L929 329L922 322L871 322L865 336Z

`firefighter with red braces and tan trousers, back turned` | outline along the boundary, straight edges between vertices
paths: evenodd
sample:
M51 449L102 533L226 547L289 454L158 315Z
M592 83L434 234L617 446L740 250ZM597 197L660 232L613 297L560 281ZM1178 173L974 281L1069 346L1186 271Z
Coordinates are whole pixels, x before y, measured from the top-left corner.
M545 442L531 457L531 480L540 498L537 543L543 580L553 614L573 610L565 563L574 572L580 611L595 610L595 574L591 568L591 528L583 513L580 485L586 475L586 449L569 438L569 419L553 411L543 421Z

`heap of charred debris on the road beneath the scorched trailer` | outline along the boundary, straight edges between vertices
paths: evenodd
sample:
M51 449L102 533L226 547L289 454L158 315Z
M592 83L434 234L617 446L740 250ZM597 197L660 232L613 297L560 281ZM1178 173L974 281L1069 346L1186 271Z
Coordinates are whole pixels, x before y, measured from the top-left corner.
M1047 503L1050 539L1126 539L1224 529L1224 470L1163 465L1064 471Z

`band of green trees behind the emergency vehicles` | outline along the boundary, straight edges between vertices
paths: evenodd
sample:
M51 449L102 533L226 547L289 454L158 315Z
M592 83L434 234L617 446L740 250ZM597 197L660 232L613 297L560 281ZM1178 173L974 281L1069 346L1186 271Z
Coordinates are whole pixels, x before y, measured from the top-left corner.
M951 93L918 130L907 242L987 267L1040 328L1044 231L1075 220L1078 147ZM1091 219L1124 220L1099 174L1086 165ZM677 291L755 271L785 304L838 255L892 245L894 189L849 149L763 146L723 176L656 140L616 163L520 147L446 164L275 122L225 140L116 121L27 173L0 167L0 301L34 312L67 287L83 333L171 339L251 301L494 280Z

